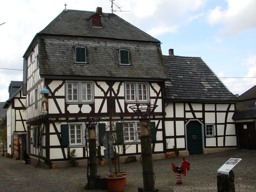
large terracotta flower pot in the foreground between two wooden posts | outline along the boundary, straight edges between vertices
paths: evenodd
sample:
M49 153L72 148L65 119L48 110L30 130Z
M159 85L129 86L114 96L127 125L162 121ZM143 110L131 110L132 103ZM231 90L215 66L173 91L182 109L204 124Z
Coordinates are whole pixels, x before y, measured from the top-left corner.
M108 181L108 190L111 192L119 192L125 190L126 176L119 175L120 177L106 176Z

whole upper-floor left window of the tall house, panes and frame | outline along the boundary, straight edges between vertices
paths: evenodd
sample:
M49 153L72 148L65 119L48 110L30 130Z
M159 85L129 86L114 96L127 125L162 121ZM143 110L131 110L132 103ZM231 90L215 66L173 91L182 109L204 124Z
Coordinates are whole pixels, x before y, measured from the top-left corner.
M92 82L67 82L68 102L93 102Z

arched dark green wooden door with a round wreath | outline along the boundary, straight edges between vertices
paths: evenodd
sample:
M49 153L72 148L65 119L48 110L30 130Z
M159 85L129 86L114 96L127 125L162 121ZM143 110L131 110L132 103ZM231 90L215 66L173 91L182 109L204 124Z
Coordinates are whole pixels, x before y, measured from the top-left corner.
M187 146L189 155L203 153L202 125L196 120L187 124Z

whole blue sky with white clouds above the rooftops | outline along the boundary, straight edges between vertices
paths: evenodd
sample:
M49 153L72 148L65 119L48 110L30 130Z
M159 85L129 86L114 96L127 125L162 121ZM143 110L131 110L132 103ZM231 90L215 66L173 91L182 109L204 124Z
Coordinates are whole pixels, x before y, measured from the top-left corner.
M112 12L110 0L0 0L0 102L23 80L23 55L64 9ZM201 57L233 94L256 84L255 0L113 0L114 14L161 41L163 55ZM4 24L2 24L4 23ZM15 70L11 70L15 69Z

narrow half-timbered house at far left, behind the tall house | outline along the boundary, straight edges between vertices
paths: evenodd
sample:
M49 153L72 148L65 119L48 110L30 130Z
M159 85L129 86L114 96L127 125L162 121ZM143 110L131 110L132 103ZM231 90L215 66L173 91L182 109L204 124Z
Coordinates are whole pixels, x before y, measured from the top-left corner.
M22 84L22 81L11 81L9 99L3 106L7 117L7 152L18 158L24 155L27 143L26 95L23 95Z

